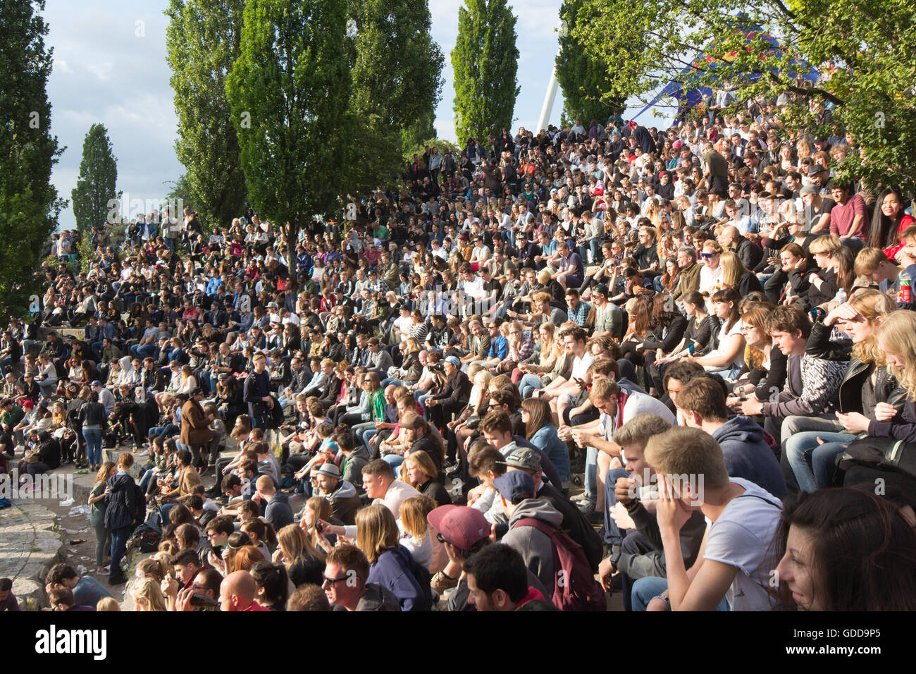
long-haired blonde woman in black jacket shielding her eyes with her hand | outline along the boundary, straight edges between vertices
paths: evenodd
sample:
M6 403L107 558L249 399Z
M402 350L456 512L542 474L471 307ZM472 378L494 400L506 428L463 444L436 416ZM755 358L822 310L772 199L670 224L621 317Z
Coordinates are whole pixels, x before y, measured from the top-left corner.
M899 330L895 332L895 328L906 325L905 319L896 318L898 314L911 312L898 311L884 293L866 290L856 293L849 302L840 304L812 326L807 354L820 359L848 360L849 365L840 383L838 411L800 417L795 432L785 441L784 462L791 467L803 491L829 486L827 469L834 456L856 437L872 435L878 423L876 419L889 421L903 409L908 395L905 372L889 366L879 344L882 335L892 335L892 348L900 352L906 348L907 340L912 339L901 337ZM884 331L891 319L892 327ZM851 337L852 346L846 341L830 341L834 326Z

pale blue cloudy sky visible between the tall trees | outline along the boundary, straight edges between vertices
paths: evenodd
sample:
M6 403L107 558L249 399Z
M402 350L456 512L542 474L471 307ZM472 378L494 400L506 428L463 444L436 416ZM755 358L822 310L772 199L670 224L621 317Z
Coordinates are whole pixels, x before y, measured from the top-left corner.
M521 92L513 127L533 128L557 51L561 0L518 0L518 83ZM158 200L167 182L183 172L175 157L176 117L165 60L163 14L166 0L47 0L47 44L54 48L48 83L51 131L67 146L52 181L70 198L82 158L82 140L90 125L108 128L118 165L118 189L125 198ZM430 0L432 38L445 55L445 85L436 111L436 131L454 140L454 95L450 52L458 32L458 0ZM562 91L551 122L559 122ZM60 215L60 227L75 227L72 208Z

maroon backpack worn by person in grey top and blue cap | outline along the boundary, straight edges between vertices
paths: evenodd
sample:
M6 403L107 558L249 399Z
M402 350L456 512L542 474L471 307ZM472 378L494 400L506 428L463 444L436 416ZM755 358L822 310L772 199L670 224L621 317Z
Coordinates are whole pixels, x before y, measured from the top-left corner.
M550 536L553 547L553 569L557 582L553 591L553 605L561 611L606 611L605 591L594 580L591 565L585 558L582 546L560 529L523 517L512 527L533 526L545 536ZM562 572L562 579L560 577Z

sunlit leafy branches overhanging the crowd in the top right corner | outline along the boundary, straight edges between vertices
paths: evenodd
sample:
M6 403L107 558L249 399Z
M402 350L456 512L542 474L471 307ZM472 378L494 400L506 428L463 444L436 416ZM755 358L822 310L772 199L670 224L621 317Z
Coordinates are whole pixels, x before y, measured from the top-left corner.
M582 0L573 35L612 74L609 93L648 99L683 81L734 90L737 105L792 95L783 138L833 125L852 135L842 173L916 189L916 7L897 0ZM738 13L741 13L738 17ZM765 27L763 29L759 27ZM772 49L767 36L780 40ZM633 49L632 45L640 49ZM694 60L703 51L707 58ZM836 70L825 73L827 61ZM810 64L810 65L809 65ZM822 70L814 85L798 76Z

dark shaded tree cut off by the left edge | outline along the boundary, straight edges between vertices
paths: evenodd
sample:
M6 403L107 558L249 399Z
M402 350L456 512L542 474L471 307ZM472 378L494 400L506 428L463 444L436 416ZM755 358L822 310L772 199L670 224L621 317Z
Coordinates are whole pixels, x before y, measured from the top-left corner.
M0 1L0 316L25 315L43 282L38 260L67 202L50 182L60 158L51 136L53 50L43 0Z

